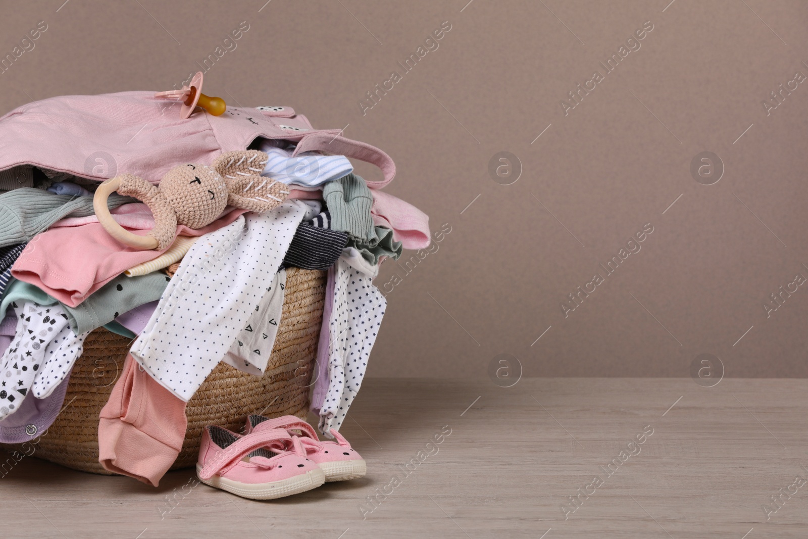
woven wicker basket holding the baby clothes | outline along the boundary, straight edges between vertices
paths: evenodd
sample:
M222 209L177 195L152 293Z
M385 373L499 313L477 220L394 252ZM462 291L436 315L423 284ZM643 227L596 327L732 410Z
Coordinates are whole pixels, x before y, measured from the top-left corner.
M287 269L284 310L266 373L256 377L224 363L213 369L188 402L188 429L172 470L196 464L205 425L241 432L248 414L305 418L325 291L326 272ZM98 461L99 412L112 393L131 343L103 328L87 337L70 375L63 410L39 437L34 457L74 470L112 475ZM0 447L21 450L21 445Z

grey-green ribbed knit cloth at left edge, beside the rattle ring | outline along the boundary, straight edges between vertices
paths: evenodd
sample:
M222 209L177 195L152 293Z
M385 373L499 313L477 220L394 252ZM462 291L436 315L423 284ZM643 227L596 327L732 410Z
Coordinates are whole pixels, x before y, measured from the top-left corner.
M107 199L107 206L117 208L134 201L113 193ZM0 247L27 242L63 217L86 217L94 213L91 196L54 195L33 187L3 193L0 195Z

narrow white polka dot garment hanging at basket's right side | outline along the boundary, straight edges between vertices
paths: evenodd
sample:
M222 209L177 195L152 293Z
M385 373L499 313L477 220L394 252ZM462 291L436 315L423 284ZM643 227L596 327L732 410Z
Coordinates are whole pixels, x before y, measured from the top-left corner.
M328 392L320 409L320 432L339 431L362 385L368 357L385 315L387 300L369 276L343 259L335 265L331 311Z

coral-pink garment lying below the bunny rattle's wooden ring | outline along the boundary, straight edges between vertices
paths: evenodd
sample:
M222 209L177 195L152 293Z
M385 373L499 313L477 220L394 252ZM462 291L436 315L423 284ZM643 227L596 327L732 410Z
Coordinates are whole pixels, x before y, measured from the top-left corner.
M235 209L202 229L179 225L177 234L201 236L229 225L244 209ZM132 230L145 235L147 230ZM130 267L165 251L138 251L112 238L99 223L48 229L37 234L11 267L16 279L33 284L65 305L80 305L104 284Z

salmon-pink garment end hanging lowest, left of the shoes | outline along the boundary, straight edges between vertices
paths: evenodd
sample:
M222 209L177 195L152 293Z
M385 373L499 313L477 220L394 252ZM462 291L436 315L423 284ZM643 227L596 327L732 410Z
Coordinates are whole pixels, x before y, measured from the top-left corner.
M127 355L124 372L99 415L104 470L158 486L183 448L185 406Z

